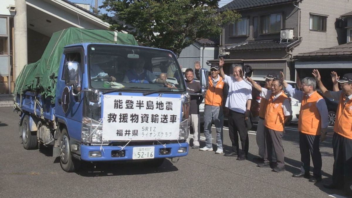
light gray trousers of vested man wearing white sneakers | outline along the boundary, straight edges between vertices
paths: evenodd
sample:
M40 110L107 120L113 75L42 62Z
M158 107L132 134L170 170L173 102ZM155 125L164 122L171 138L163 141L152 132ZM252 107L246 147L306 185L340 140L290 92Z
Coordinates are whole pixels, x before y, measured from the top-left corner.
M204 135L206 138L205 146L212 148L212 122L216 128L216 146L218 149L222 149L223 132L224 126L224 113L222 106L205 105L204 106Z

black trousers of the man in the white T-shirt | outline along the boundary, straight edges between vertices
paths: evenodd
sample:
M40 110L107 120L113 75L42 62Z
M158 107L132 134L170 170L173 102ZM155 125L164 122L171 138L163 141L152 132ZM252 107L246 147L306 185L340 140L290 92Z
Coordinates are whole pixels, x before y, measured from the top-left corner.
M244 113L239 113L230 110L228 118L228 133L232 142L232 151L237 152L238 155L247 155L249 148L248 131L244 120ZM239 153L238 134L242 144L242 151Z

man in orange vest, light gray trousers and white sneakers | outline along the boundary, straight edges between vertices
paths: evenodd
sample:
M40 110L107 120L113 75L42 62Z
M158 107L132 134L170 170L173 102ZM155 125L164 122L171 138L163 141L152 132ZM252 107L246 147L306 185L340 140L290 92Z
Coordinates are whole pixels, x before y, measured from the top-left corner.
M194 64L196 70L196 76L200 69L200 62L196 61ZM205 94L204 99L204 135L206 138L205 147L200 148L202 151L213 151L212 144L212 121L215 124L216 128L216 151L215 154L221 154L224 152L222 149L222 127L224 126L224 113L222 110L222 97L223 97L223 88L224 80L222 80L219 75L219 67L213 65L210 67L210 76L209 78L209 88Z

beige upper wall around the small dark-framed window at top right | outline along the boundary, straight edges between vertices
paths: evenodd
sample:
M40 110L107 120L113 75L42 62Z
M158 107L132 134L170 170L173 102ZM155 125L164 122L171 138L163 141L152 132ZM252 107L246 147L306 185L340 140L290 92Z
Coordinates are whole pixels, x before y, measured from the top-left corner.
M303 39L302 43L293 51L293 55L339 45L337 39L338 32L346 31L346 29L335 29L335 20L342 14L351 12L352 1L303 0L300 4L300 8L301 36ZM326 32L309 30L309 13L328 15Z

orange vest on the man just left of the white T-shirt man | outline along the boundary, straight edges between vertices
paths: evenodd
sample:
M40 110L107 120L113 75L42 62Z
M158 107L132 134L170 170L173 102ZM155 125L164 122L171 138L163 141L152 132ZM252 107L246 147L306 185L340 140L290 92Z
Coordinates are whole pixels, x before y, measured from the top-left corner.
M222 81L221 76L219 76L219 81L216 82L214 87L212 77L209 76L209 88L205 94L204 104L221 106L222 105L222 89L224 88L224 81Z

